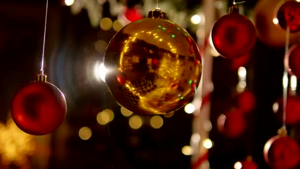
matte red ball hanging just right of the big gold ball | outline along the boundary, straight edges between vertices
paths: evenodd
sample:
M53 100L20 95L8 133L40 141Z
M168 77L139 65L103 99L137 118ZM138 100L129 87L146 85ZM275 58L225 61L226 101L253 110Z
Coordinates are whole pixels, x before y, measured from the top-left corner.
M256 42L256 30L252 22L239 13L227 14L214 24L212 42L225 58L247 55Z

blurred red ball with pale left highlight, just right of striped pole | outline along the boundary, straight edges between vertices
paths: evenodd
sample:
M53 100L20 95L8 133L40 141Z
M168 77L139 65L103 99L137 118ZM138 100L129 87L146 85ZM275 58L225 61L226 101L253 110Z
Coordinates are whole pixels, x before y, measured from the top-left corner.
M226 137L236 138L246 130L246 119L239 109L233 109L219 116L218 129Z

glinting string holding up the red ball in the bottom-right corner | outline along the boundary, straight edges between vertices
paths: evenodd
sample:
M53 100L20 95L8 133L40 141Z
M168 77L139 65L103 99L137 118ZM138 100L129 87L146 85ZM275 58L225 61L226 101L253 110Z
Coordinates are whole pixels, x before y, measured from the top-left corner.
M290 28L287 27L286 30L286 42L285 42L285 56L288 55L289 52L289 42L290 42ZM286 129L286 109L287 109L287 100L288 100L288 71L284 69L282 84L283 84L283 114L282 114L282 124L283 129Z

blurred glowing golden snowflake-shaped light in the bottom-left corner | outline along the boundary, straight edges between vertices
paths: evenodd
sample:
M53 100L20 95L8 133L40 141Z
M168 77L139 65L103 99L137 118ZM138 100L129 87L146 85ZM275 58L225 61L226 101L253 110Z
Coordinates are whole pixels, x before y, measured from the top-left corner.
M14 163L22 165L27 162L27 157L35 152L36 142L34 136L19 129L9 119L6 123L0 124L0 155L1 163L9 165Z

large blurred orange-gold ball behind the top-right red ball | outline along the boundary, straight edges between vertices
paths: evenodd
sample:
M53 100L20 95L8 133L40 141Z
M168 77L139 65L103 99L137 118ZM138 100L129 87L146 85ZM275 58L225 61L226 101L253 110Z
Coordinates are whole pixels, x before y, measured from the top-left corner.
M284 47L286 31L274 24L274 14L282 0L259 0L253 9L258 38L270 46ZM275 19L276 21L276 19ZM276 23L276 22L275 22ZM299 41L300 32L290 34L290 44Z

